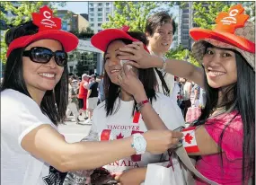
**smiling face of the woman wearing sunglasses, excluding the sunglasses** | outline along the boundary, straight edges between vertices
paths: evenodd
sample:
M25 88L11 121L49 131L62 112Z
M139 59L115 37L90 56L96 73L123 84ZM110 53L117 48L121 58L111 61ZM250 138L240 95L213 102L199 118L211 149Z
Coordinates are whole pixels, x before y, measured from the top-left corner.
M63 49L57 40L38 40L31 43L25 50L33 47L49 48L53 52ZM47 64L35 63L30 57L22 57L22 66L24 81L30 93L54 89L64 71L63 66L57 66L54 57Z

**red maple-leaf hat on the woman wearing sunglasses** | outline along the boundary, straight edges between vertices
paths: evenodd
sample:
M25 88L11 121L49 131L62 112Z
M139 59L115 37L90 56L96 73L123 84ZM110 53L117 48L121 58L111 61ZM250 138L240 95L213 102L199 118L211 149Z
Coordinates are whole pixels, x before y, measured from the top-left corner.
M40 8L40 13L32 13L33 23L39 27L39 32L22 36L13 40L7 50L8 57L14 48L23 48L36 40L57 40L66 52L74 50L78 45L78 38L67 31L61 31L61 19L53 17L52 10L47 5Z

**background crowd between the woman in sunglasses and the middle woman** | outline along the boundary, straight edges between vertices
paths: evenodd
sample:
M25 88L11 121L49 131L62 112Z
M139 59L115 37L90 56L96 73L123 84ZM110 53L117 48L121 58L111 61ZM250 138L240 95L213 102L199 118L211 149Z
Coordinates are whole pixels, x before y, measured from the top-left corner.
M75 117L76 124L92 123L93 110L104 101L102 75L87 75L79 77L69 74L68 77L68 105L66 110L66 121L71 121L68 117ZM81 116L81 118L79 117Z

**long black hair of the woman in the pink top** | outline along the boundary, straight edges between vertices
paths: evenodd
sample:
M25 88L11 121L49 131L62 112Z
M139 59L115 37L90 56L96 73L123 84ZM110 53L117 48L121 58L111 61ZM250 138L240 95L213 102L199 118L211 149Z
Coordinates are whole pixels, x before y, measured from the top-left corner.
M207 48L214 48L213 45L207 43ZM252 175L255 181L255 72L244 57L236 50L231 49L235 53L237 82L226 88L224 101L221 105L217 104L218 91L207 84L207 76L205 75L205 90L207 103L202 110L202 114L195 125L205 124L210 114L218 107L224 107L225 112L237 110L243 121L243 183L245 179ZM238 115L236 114L234 118ZM225 125L227 128L232 124L233 119ZM225 128L219 139L221 148L222 138L225 134ZM221 154L222 159L222 154Z

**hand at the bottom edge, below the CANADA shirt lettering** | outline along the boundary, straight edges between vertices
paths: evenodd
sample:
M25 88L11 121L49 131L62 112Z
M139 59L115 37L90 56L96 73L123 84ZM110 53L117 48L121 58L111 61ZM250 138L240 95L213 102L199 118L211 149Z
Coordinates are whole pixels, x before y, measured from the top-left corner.
M119 185L140 185L146 178L146 168L134 168L115 177Z

